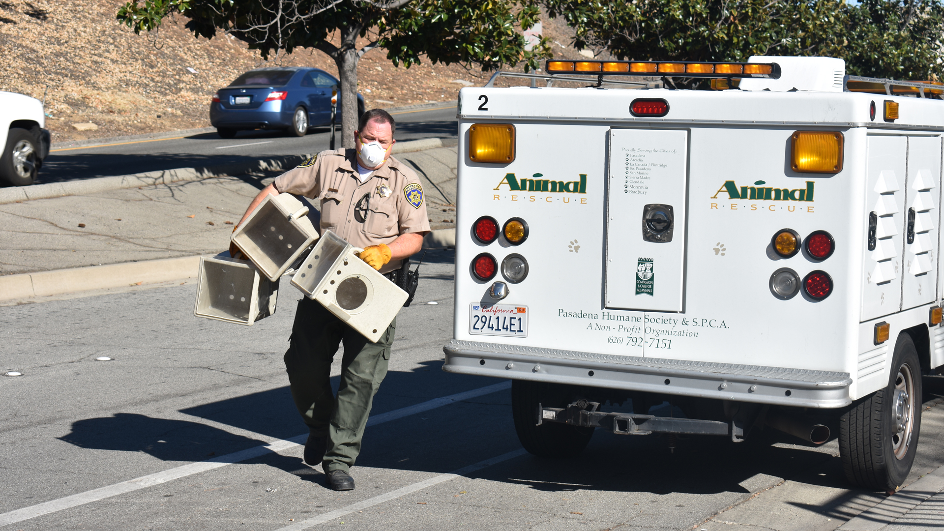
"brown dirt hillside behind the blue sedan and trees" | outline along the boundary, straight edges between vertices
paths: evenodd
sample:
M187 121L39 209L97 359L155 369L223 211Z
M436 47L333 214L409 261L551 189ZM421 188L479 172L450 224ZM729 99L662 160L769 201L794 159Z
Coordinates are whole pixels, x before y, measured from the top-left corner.
M219 36L194 38L185 20L157 34L135 35L115 20L115 0L0 0L0 91L45 93L53 142L210 126L211 95L246 70L266 64L258 51ZM566 27L544 23L555 56L579 58ZM330 58L296 50L269 64L314 66L336 75ZM372 107L399 107L456 98L463 80L489 77L462 65L395 68L379 49L359 67L359 90ZM93 123L79 131L74 124Z

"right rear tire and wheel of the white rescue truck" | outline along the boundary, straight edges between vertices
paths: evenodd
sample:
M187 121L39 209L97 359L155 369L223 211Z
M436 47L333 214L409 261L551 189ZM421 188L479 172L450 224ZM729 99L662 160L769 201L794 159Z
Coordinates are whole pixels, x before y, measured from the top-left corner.
M855 401L839 418L843 471L863 488L901 486L918 451L921 368L910 335L899 335L891 367L885 388Z

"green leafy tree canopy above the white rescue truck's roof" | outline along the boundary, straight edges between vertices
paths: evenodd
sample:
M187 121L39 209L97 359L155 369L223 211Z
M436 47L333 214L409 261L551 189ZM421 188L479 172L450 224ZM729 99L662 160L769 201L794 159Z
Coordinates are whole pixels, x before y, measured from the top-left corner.
M752 55L846 60L852 75L940 75L939 0L546 0L572 26L578 49L631 60L747 60ZM669 86L704 87L700 79Z

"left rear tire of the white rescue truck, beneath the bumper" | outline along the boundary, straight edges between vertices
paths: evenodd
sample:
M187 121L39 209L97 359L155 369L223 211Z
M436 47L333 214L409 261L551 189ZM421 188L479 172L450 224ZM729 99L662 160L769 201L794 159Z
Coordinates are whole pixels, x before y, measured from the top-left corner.
M521 446L538 457L575 457L583 452L594 428L580 428L557 422L536 426L537 404L548 407L566 407L577 400L573 387L545 382L512 381L512 415L514 431Z

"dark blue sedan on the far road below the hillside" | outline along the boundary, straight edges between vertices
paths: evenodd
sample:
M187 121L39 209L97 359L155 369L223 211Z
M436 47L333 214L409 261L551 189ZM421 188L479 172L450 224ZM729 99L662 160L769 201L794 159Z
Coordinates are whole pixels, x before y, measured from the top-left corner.
M250 70L213 94L210 123L223 138L245 129L284 129L305 136L309 128L331 123L331 93L338 85L335 77L317 68ZM357 97L360 117L363 97ZM337 109L340 114L340 97ZM340 115L336 121L341 122Z

